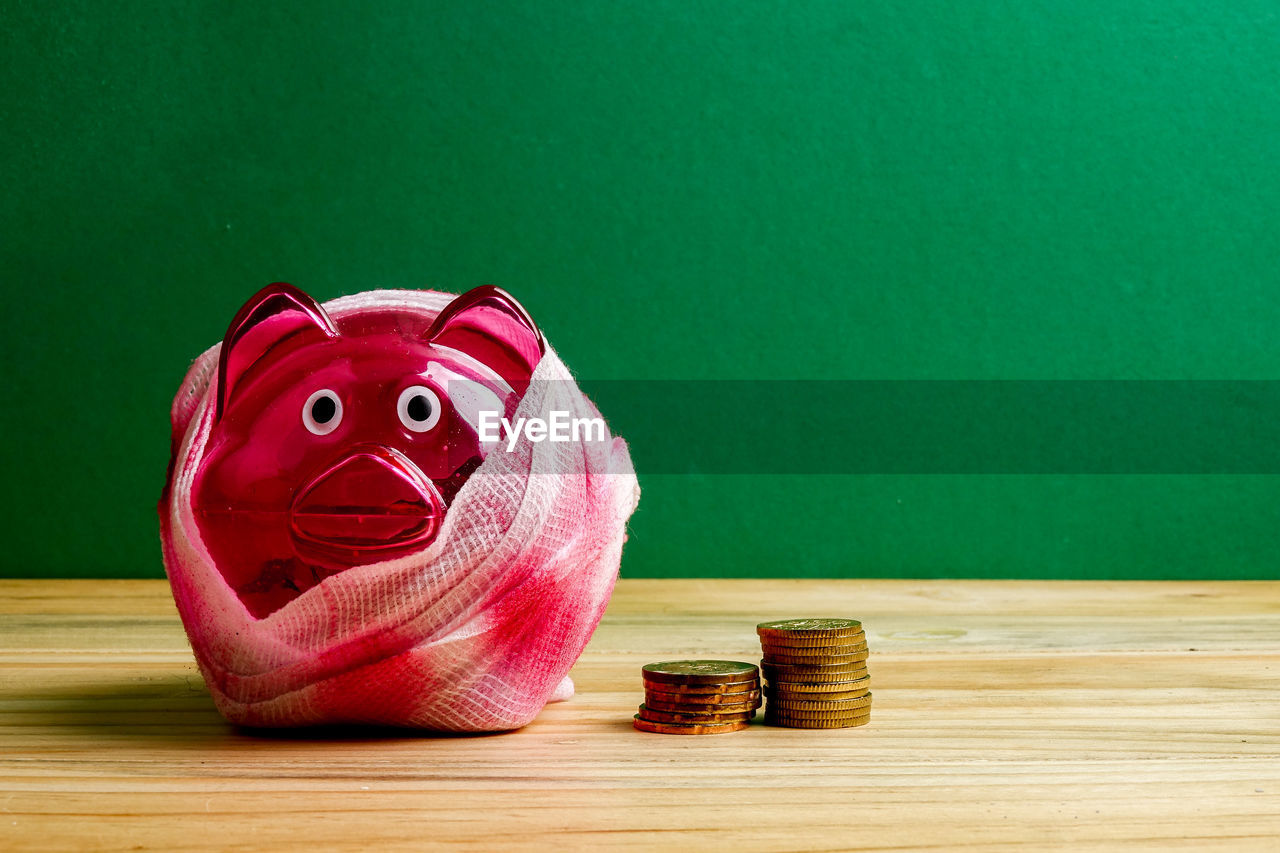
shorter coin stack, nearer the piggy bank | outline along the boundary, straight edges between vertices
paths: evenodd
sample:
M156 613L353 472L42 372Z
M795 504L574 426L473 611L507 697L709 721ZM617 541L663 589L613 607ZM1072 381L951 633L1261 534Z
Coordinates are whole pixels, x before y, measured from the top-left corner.
M739 661L666 661L643 670L644 704L635 727L657 734L745 729L760 707L760 671Z

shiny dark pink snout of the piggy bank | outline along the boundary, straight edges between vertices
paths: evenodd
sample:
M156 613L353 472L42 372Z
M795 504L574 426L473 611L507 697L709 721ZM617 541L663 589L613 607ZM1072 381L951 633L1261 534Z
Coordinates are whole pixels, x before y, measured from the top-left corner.
M300 552L379 560L394 556L379 552L430 543L444 510L435 484L404 453L362 444L298 489L289 524Z

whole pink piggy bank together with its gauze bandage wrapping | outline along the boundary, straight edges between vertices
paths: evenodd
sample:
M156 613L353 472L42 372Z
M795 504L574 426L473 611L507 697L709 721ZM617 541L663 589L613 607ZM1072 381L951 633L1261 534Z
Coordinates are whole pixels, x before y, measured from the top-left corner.
M508 293L273 284L172 421L165 570L229 721L497 731L572 694L639 487Z

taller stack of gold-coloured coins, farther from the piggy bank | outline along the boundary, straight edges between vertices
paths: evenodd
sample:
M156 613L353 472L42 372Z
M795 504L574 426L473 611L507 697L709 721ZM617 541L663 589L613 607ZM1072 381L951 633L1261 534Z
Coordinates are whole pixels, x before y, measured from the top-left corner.
M854 619L786 619L755 626L764 649L764 722L845 729L870 721L867 634Z

